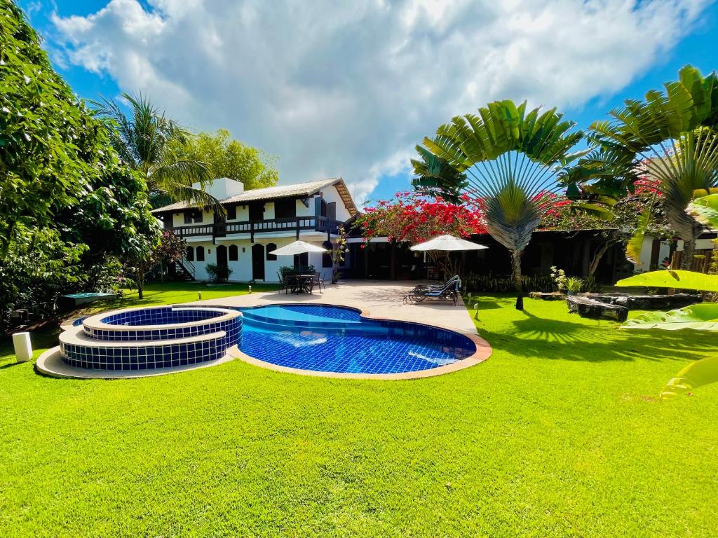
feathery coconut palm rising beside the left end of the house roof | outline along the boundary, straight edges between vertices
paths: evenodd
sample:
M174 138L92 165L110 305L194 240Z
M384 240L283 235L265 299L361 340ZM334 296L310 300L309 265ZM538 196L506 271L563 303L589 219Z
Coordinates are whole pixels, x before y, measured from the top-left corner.
M169 198L216 205L217 199L203 190L213 179L207 164L188 159L183 151L189 131L142 95L123 93L122 97L129 103L129 115L113 99L92 103L97 115L110 124L111 142L122 161L144 177L153 204ZM192 186L197 183L199 188Z

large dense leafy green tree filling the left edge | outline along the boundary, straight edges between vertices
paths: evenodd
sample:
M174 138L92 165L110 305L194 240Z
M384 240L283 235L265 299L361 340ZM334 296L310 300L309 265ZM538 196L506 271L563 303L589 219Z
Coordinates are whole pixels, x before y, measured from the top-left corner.
M12 2L0 2L0 315L118 275L157 237L144 179L52 69Z

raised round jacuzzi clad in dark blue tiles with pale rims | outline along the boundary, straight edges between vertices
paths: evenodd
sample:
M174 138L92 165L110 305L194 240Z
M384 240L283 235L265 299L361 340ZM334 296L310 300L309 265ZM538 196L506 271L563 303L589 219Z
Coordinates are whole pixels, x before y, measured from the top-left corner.
M228 308L157 306L84 318L60 334L72 367L144 370L210 362L241 343L242 316Z

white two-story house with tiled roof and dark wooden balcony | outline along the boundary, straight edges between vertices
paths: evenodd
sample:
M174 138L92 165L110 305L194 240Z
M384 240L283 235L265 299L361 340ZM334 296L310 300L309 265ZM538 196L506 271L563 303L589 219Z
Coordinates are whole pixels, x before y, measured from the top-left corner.
M182 265L197 280L208 279L208 263L226 265L230 280L276 282L279 268L314 265L331 272L330 255L276 256L272 250L303 240L331 250L337 228L357 214L357 207L341 178L323 179L245 191L240 181L215 179L207 188L220 200L225 217L212 208L177 202L152 213L187 241Z

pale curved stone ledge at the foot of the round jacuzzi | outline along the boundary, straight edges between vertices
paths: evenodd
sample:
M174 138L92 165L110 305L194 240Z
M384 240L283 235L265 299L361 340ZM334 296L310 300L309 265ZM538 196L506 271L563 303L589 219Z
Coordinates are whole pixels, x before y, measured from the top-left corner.
M55 346L47 349L47 351L37 357L34 368L39 374L63 379L136 379L138 377L157 377L159 375L178 374L180 372L189 372L190 370L226 364L234 359L233 354L235 350L238 351L236 345L230 347L224 356L219 359L197 362L196 364L185 364L183 366L144 370L101 370L70 366L70 364L62 360L60 346Z

